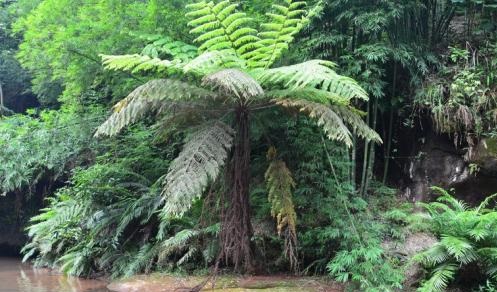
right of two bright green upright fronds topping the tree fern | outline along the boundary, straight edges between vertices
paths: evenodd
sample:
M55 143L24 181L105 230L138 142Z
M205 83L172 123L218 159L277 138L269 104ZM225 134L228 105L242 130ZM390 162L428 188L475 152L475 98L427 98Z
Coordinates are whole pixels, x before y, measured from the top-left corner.
M284 0L282 5L273 4L273 12L267 13L269 22L261 25L260 41L256 49L245 54L253 68L269 68L288 49L306 19L304 1Z

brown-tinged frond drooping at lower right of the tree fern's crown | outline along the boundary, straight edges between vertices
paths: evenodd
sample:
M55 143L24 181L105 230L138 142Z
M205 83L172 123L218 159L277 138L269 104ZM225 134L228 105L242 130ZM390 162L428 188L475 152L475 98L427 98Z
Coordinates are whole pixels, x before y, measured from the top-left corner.
M282 99L274 100L274 102L283 107L298 108L301 112L316 119L330 140L343 142L348 147L352 146L352 133L345 126L342 118L329 106L302 99Z

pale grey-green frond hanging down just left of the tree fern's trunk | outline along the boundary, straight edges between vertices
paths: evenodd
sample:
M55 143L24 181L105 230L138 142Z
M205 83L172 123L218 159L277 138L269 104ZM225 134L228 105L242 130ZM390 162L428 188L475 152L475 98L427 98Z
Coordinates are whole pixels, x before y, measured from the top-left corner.
M233 135L233 130L221 122L192 134L165 176L162 191L165 216L183 215L207 184L216 180L232 146Z

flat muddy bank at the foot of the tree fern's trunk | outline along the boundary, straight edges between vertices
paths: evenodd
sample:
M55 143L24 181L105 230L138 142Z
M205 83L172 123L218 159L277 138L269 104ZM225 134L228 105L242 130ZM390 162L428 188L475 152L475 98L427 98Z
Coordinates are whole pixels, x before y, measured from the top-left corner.
M205 280L205 277L172 276L155 273L139 275L111 283L108 289L114 292L163 292L188 291ZM222 276L213 287L209 282L202 291L264 291L264 292L342 292L342 285L314 277L292 276Z

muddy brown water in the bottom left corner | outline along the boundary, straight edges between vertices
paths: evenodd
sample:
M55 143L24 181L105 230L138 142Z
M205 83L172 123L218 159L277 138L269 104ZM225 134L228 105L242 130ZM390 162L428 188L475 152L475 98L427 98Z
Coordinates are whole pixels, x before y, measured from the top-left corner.
M107 283L34 269L18 259L0 258L0 292L108 292Z

